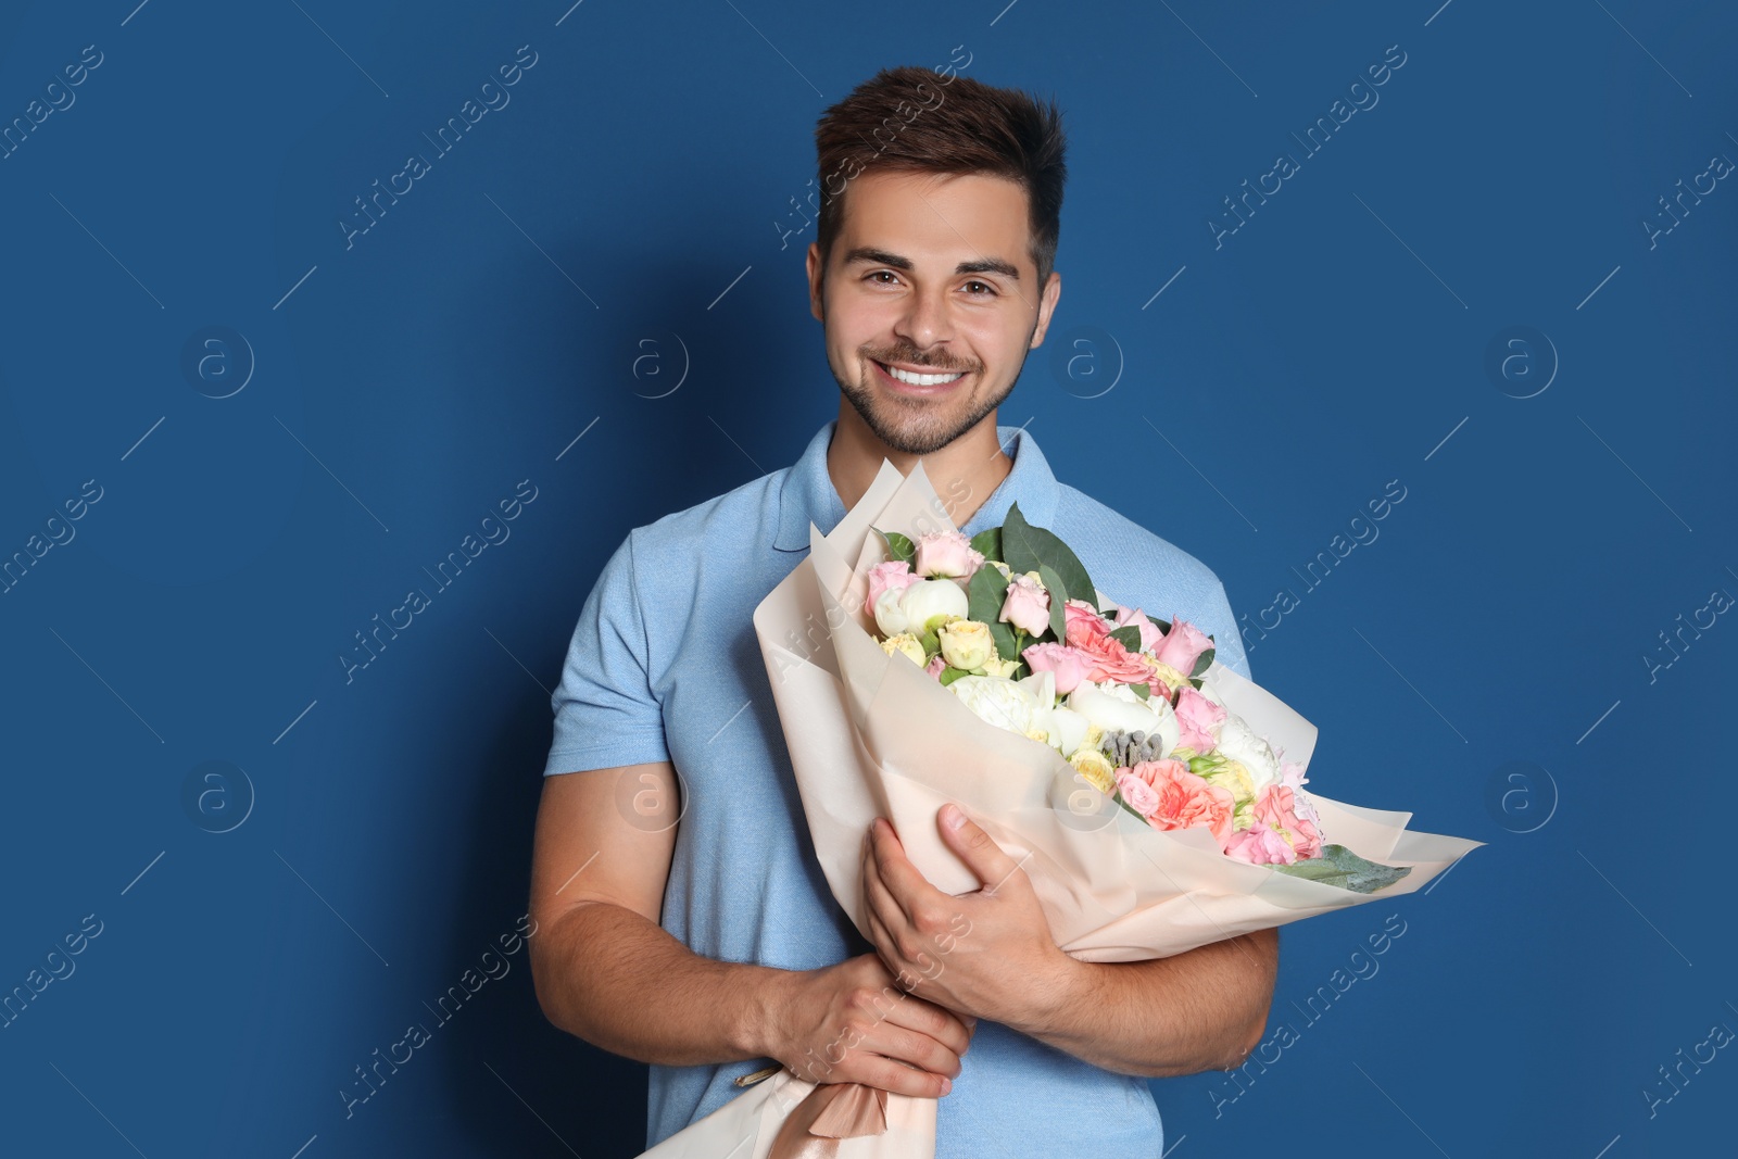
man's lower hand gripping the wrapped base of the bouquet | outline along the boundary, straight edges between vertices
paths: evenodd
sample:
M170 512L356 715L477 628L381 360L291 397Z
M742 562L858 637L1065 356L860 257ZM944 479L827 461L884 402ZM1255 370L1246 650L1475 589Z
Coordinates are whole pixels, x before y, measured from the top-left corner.
M940 1098L972 1023L899 987L874 954L791 973L768 1011L768 1056L812 1083Z

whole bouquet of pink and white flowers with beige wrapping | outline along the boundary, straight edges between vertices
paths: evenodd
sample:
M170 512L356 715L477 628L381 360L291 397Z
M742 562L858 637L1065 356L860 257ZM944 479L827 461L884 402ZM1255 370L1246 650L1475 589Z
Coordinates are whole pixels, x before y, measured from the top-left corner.
M958 803L1083 961L1180 954L1411 893L1477 841L1302 791L1316 728L1213 660L1194 626L1124 608L1010 509L966 542L923 466L890 462L754 610L810 838L867 931L876 817L939 890ZM867 937L867 933L866 933ZM779 1070L647 1152L784 1159L935 1152L935 1102Z

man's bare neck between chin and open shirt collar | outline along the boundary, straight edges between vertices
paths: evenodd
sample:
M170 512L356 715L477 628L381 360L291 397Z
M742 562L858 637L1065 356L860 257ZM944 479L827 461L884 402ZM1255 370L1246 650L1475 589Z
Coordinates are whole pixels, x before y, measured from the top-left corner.
M954 527L965 527L1013 471L1013 459L1001 450L996 438L994 410L947 447L919 457L883 443L857 408L841 398L839 421L827 445L827 474L833 476L833 490L839 493L846 511L869 490L883 459L907 476L921 459L923 473L947 507L947 518Z

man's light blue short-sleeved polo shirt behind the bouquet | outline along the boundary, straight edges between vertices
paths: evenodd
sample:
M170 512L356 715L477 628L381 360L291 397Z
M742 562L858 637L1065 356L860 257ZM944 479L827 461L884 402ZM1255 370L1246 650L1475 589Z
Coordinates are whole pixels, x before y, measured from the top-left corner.
M579 613L553 697L544 775L669 759L683 817L662 926L706 957L815 970L871 947L815 862L754 606L831 532L845 504L827 474L834 422L794 466L638 527ZM998 527L1010 504L1055 530L1112 599L1211 632L1218 660L1248 676L1225 589L1203 563L1058 483L1032 434L998 427L1013 469L966 523ZM657 1001L648 980L647 1001ZM652 1067L647 1145L740 1093L760 1062ZM940 1100L937 1159L1161 1156L1145 1079L1111 1074L991 1022Z

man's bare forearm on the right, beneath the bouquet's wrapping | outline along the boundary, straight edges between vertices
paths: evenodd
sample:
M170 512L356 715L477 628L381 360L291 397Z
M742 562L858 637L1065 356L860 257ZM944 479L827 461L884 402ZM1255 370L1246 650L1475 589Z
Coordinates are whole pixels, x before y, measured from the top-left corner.
M1225 1070L1260 1043L1277 968L1274 930L1152 961L1072 963L1065 990L1017 1029L1119 1074Z

